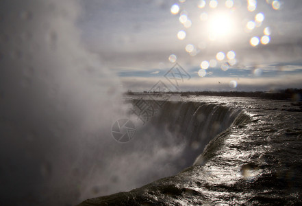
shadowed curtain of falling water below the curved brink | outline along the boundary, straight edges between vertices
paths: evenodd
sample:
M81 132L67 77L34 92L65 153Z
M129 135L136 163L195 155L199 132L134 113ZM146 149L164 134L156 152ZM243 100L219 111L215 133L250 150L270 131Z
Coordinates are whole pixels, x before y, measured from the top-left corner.
M155 106L153 101L149 105ZM162 105L162 103L160 103ZM192 165L205 146L216 135L230 126L249 121L241 108L204 102L164 102L157 114L142 129L152 134L153 141L163 148L179 146L179 158L172 157L170 163L179 172ZM145 136L138 131L138 138ZM148 137L150 138L150 137Z

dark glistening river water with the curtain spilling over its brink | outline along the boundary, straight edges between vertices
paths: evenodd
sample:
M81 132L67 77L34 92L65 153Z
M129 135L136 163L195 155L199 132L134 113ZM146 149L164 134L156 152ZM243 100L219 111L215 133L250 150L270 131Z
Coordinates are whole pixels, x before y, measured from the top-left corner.
M158 133L149 138L167 136L158 139L165 145L161 148L178 146L177 157L164 159L173 165L174 175L80 205L302 204L297 102L176 95L141 130L150 128ZM135 138L140 135L138 130ZM162 177L167 174L172 175L164 172Z

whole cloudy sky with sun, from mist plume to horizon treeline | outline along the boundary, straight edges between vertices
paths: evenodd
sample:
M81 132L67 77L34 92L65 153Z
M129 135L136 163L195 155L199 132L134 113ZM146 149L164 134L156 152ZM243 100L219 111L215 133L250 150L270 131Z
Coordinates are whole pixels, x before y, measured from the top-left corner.
M180 91L302 87L302 1L79 2L82 41L124 88L149 91L175 63Z

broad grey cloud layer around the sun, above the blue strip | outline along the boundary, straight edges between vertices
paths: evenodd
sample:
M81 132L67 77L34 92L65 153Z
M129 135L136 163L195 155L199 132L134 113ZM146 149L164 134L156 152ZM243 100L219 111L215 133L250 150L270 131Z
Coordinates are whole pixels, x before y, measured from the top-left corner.
M177 32L184 30L184 26L179 23L179 15L170 12L169 8L173 3L175 2L165 1L165 6L162 7L155 1L86 2L85 17L80 24L85 28L83 39L88 48L100 54L110 68L131 67L134 70L148 70L150 67L158 67L159 62L168 63L170 54L175 54L177 62L181 65L196 67L202 60L215 58L217 52L226 53L229 50L236 52L236 60L241 69L245 65L293 62L301 59L300 1L284 2L281 10L273 10L266 1L258 2L257 10L264 13L264 22L249 33L244 32L244 27L246 21L255 19L255 14L247 11L246 2L238 3L233 12L238 26L233 31L234 36L216 41L208 41L207 30L203 29L206 23L202 23L199 17L201 12L210 15L212 12L219 12L218 9L200 9L196 3L190 2L181 4L188 12L192 27L186 28L187 37L184 41L179 41ZM134 11L132 5L140 9ZM288 13L295 14L295 17ZM121 19L119 16L127 18ZM265 27L272 30L270 43L251 47L250 38L261 38ZM205 48L199 48L201 43L205 43ZM192 57L186 52L188 44L197 48L196 56Z

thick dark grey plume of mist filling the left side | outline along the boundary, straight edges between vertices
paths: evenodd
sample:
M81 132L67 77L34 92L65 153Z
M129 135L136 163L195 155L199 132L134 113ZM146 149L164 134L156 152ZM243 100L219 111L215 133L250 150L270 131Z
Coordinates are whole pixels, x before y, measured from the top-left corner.
M123 89L82 45L76 1L0 4L1 205L79 203Z

